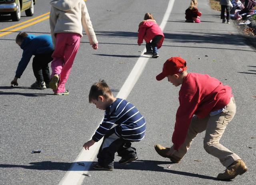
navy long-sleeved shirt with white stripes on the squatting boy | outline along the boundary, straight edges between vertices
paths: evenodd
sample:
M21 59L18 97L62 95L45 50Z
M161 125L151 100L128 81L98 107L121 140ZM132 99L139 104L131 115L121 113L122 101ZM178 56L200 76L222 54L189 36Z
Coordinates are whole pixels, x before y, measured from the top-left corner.
M92 139L98 142L114 124L117 124L116 134L125 140L140 141L145 136L144 117L133 104L121 98L116 98L116 101L106 108L104 120Z

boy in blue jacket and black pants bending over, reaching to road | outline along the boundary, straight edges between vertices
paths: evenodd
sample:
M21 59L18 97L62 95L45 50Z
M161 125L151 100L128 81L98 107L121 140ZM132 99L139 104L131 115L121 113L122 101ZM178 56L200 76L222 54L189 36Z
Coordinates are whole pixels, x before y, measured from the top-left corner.
M52 61L54 51L52 37L50 35L28 35L25 32L20 32L16 36L16 43L23 49L23 53L11 85L18 86L18 79L34 55L32 68L36 82L30 87L32 89L46 89L51 80L48 63Z

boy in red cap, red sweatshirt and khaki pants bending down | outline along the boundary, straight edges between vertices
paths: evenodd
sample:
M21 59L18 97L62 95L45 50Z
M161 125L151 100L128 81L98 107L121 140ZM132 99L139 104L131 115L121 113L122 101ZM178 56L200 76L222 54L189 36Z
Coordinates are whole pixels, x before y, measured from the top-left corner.
M172 135L173 146L165 148L157 144L155 150L173 163L179 163L196 135L206 131L204 150L220 159L226 167L225 172L219 173L217 178L234 179L245 173L247 167L238 155L219 143L226 126L236 113L231 88L209 75L188 73L186 69L184 59L172 57L164 63L162 73L156 76L158 81L167 77L174 86L182 86Z

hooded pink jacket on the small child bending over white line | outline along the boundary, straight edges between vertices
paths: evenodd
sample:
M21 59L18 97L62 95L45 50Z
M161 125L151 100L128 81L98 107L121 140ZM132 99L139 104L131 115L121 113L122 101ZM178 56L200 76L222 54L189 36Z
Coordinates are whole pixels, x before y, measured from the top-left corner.
M162 46L164 33L155 20L149 19L140 22L138 32L138 44L142 44L143 39L149 43L156 35L162 35L161 40L157 43L157 48Z

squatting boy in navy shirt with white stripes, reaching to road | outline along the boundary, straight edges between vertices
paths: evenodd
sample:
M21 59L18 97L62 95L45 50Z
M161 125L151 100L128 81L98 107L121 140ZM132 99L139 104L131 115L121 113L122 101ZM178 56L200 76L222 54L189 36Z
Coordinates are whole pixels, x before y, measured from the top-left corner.
M131 142L144 138L146 121L137 108L124 99L115 98L104 80L92 85L89 102L95 104L96 108L105 110L103 122L92 136L92 140L83 146L85 150L89 150L90 146L104 137L97 155L98 162L92 167L112 171L116 152L122 157L119 164L138 159ZM114 124L116 126L112 128Z

